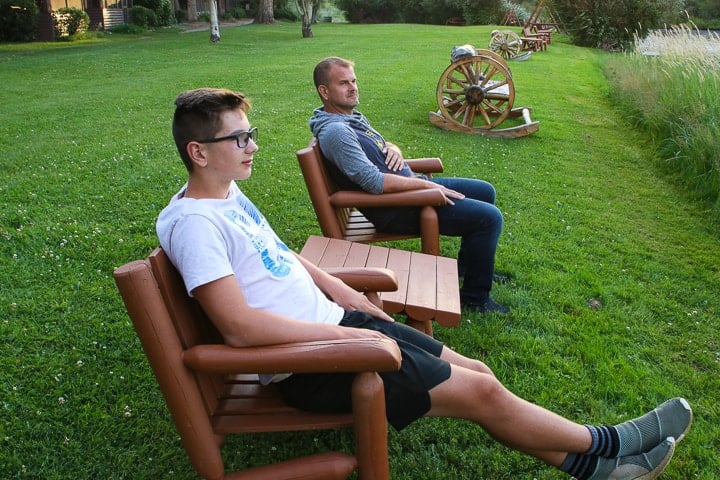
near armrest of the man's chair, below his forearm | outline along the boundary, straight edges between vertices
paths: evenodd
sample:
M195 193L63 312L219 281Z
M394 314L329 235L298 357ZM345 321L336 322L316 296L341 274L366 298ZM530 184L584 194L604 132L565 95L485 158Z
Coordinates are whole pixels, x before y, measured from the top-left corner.
M355 190L340 190L330 195L334 207L425 207L442 206L447 202L438 189L407 190L374 194Z

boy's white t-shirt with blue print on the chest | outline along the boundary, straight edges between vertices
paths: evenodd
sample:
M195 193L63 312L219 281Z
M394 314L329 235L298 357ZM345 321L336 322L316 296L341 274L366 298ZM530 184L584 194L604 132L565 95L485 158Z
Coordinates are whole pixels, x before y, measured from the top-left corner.
M193 289L228 275L248 304L297 320L339 324L344 311L315 285L265 217L233 183L224 200L176 194L157 221L160 244Z

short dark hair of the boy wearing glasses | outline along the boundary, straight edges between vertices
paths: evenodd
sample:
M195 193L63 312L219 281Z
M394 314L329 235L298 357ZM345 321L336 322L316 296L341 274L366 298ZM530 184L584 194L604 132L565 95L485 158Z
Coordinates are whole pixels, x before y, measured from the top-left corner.
M247 114L251 106L245 94L225 88L197 88L178 95L172 132L188 172L192 172L193 164L187 153L187 144L193 140L213 138L222 128L221 116L224 112L240 110Z

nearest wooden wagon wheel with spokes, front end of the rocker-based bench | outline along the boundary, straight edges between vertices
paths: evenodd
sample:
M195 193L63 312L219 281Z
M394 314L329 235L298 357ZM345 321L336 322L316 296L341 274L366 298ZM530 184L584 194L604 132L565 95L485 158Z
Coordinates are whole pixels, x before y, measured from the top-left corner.
M486 55L450 64L437 86L440 114L470 129L490 129L501 124L514 101L510 71Z

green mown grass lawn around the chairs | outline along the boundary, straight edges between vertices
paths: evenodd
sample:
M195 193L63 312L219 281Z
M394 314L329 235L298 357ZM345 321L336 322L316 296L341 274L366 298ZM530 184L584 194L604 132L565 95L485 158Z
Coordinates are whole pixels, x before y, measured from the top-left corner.
M579 422L615 423L667 397L696 420L664 478L720 475L720 237L711 207L656 167L614 107L609 55L554 41L511 63L536 134L492 139L432 126L450 50L491 27L300 24L0 45L0 478L195 478L112 280L157 244L182 185L173 100L222 86L255 103L260 151L241 187L289 246L319 229L295 151L319 105L311 73L356 61L361 110L406 156L489 180L505 228L494 296L436 336L483 358L519 395ZM638 74L641 74L638 72ZM414 243L398 244L414 248ZM453 256L457 240L443 239ZM591 300L600 302L591 308ZM478 405L482 408L482 405ZM230 439L240 468L327 448L348 432ZM475 425L424 419L390 433L395 479L565 478Z

